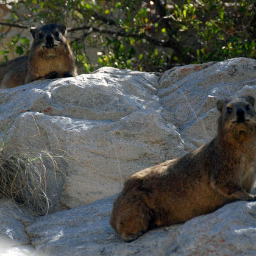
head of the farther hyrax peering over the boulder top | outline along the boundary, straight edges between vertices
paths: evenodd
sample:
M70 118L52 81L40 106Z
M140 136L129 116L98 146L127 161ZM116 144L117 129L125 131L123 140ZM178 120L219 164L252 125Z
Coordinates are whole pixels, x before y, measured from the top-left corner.
M31 27L30 33L34 38L32 48L43 57L55 57L59 48L63 48L66 43L66 26L64 24L47 24L41 27Z

